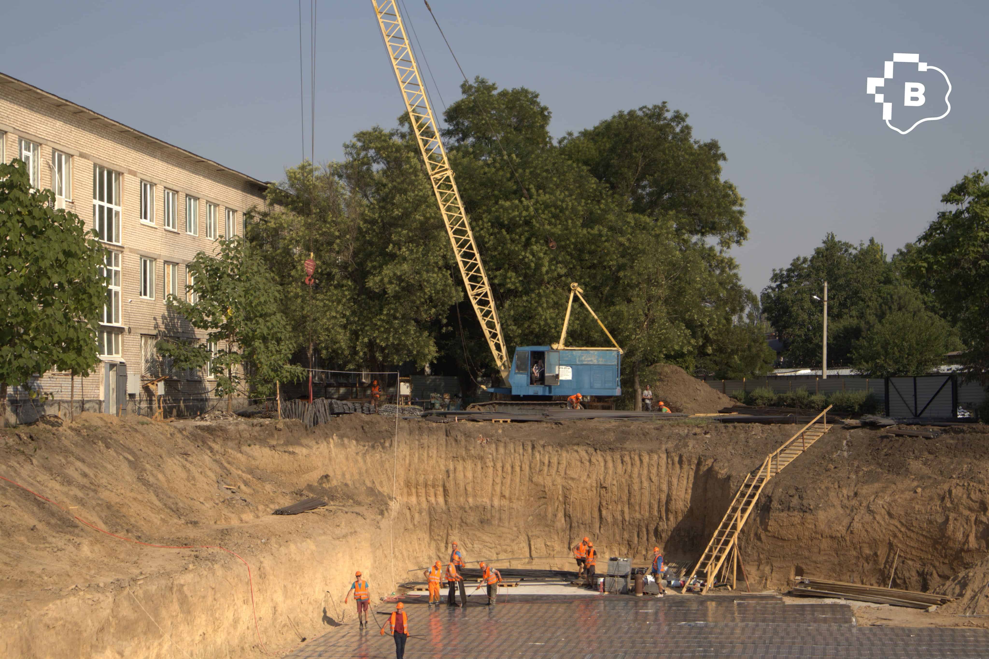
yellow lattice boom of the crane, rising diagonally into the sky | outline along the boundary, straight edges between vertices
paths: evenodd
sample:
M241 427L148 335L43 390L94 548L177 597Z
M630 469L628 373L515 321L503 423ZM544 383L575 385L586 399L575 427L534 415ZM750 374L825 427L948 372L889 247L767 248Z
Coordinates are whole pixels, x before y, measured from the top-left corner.
M415 132L419 150L422 152L433 192L436 194L436 203L439 204L443 222L446 224L446 232L450 236L450 244L453 245L453 252L457 257L457 266L464 279L467 296L474 306L475 313L478 314L478 320L481 321L481 328L494 355L494 364L497 365L498 371L501 371L501 377L507 381L511 360L505 351L491 284L481 262L481 254L478 252L474 233L467 220L467 212L460 199L460 192L453 180L453 170L450 169L446 150L440 140L436 118L429 105L411 44L405 34L402 15L399 13L396 0L371 0L371 2L374 4L375 15L378 17L385 46L388 48L395 77L402 89L408 119Z

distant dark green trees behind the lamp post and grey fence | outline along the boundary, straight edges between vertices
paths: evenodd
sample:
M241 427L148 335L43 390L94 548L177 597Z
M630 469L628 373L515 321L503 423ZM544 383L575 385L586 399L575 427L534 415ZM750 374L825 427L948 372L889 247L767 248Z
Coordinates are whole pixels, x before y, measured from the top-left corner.
M905 268L902 257L888 260L875 240L853 245L829 233L810 257L774 270L763 309L787 362L821 364L823 313L813 295L827 281L829 368L882 377L921 375L942 364L956 344L953 331L905 279Z

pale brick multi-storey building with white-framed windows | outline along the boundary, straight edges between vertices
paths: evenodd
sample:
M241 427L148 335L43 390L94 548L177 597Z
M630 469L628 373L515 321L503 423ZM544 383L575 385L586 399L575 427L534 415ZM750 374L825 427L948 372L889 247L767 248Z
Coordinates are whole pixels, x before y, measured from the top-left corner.
M0 73L0 158L18 157L110 250L102 364L76 378L75 399L87 410L133 412L151 401L141 381L167 373L166 404L205 409L213 389L207 373L168 372L154 350L159 338L196 337L165 298L187 294L186 264L197 253L242 235L245 211L265 204L266 184ZM45 373L32 387L52 394L59 409L67 405L66 373ZM27 403L17 387L8 400L22 421L37 413L37 405L18 412Z

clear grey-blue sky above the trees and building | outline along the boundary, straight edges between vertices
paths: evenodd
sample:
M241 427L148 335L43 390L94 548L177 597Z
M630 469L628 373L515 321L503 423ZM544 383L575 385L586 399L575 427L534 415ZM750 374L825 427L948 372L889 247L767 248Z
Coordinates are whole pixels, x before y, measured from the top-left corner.
M751 229L733 253L757 291L827 231L894 252L952 183L989 166L989 3L430 4L468 75L540 92L555 135L667 101L718 139ZM421 0L405 7L449 103L459 72ZM4 25L5 73L260 179L302 157L297 3L36 0L9 3ZM317 161L403 111L377 31L370 0L319 4ZM944 69L944 120L907 135L882 123L865 78L893 52ZM306 108L308 124L308 96Z

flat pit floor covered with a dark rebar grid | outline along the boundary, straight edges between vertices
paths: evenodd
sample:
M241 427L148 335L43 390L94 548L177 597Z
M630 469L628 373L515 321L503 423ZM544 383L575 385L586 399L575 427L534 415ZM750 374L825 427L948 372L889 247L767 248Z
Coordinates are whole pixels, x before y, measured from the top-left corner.
M500 599L500 594L499 594ZM384 624L389 608L375 612ZM972 628L860 627L852 608L785 605L767 597L598 596L499 602L465 609L409 605L409 657L532 659L581 657L984 657L989 631ZM354 624L290 655L297 659L387 659L391 638Z

